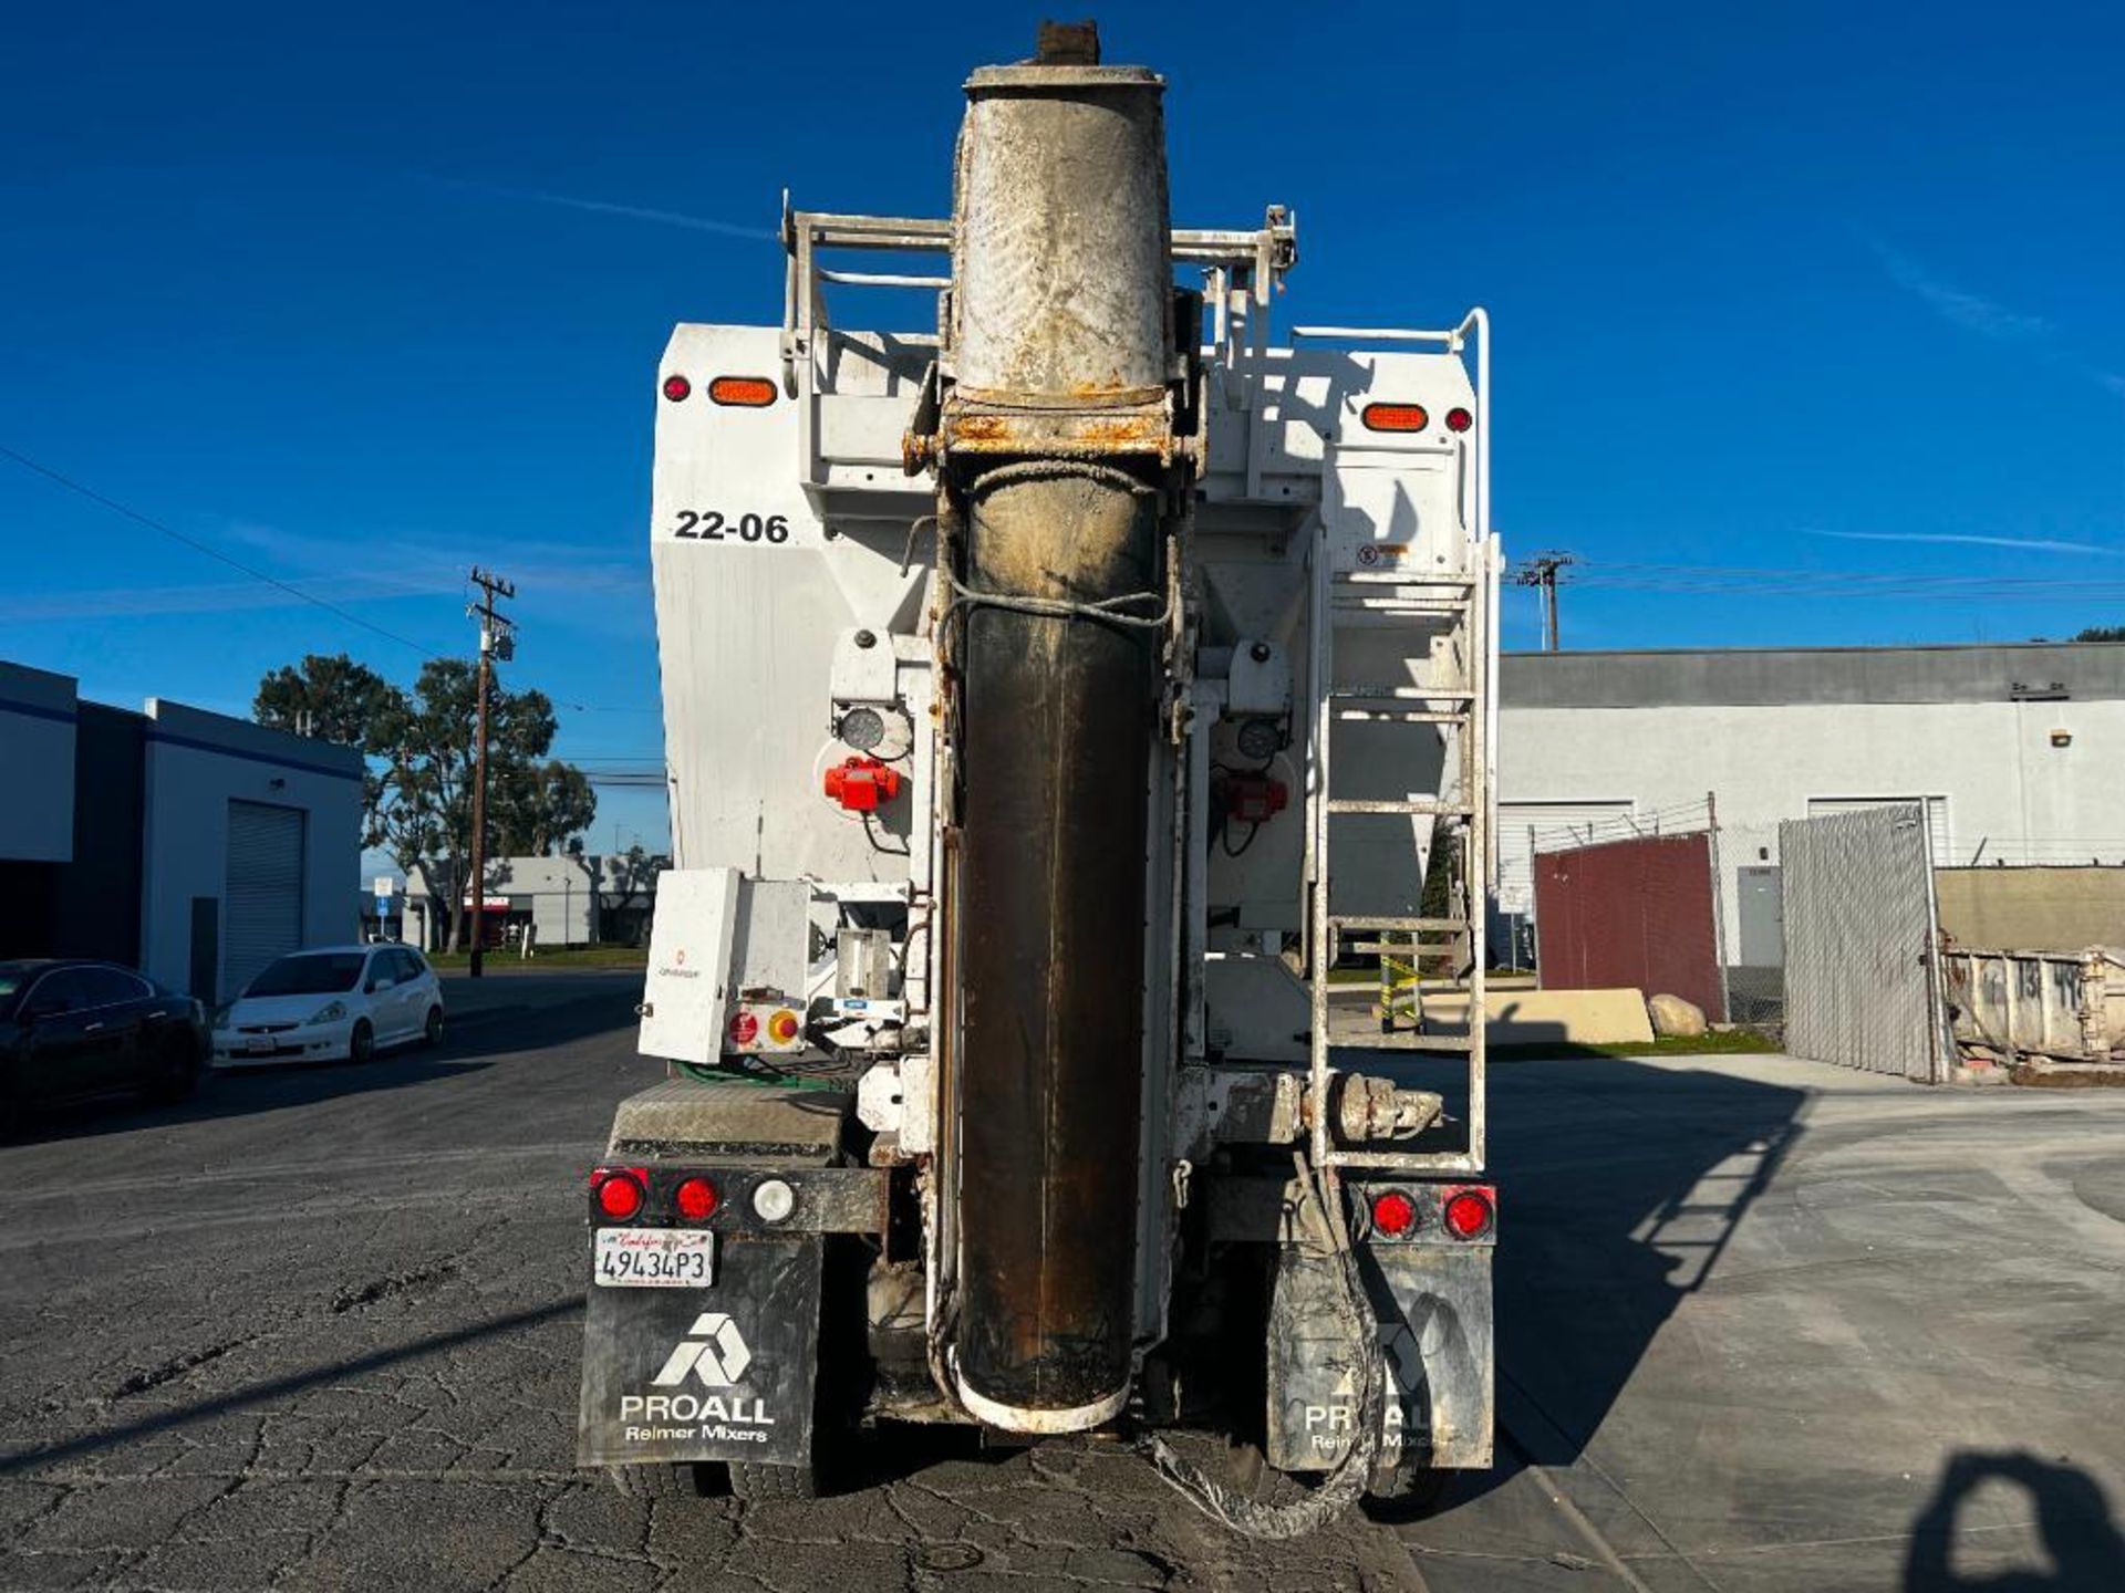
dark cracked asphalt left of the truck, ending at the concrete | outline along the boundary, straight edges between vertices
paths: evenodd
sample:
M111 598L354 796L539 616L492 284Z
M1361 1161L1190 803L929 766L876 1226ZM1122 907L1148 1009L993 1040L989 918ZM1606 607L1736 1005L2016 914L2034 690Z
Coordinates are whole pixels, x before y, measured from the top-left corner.
M1386 1527L1254 1546L1130 1455L907 1455L818 1504L576 1472L582 1172L627 975L448 983L440 1051L217 1075L0 1147L0 1589L1415 1587Z

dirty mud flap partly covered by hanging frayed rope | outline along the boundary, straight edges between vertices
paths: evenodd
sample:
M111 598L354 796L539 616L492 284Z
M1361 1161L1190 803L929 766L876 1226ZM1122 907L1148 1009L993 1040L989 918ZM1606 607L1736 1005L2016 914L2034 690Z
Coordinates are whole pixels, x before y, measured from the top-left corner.
M1383 1466L1490 1466L1490 1245L1360 1247L1390 1393ZM1330 1251L1279 1247L1269 1308L1266 1459L1284 1472L1328 1470L1356 1438L1358 1368L1334 1311L1341 1287Z

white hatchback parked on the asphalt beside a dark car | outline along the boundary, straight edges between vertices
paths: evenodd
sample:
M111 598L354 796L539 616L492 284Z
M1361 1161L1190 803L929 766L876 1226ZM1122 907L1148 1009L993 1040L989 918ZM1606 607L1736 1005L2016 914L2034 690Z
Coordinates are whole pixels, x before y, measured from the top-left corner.
M259 973L215 1013L215 1066L346 1058L442 1041L442 983L408 945L327 945Z

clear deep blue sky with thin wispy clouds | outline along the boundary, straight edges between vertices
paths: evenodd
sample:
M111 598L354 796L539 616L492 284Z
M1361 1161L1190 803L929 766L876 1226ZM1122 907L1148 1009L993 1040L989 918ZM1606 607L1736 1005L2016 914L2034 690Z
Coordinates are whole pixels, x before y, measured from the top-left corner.
M499 567L559 750L648 767L657 355L778 316L784 185L944 215L960 76L1041 11L922 15L21 8L0 444L419 648ZM1286 325L1492 308L1496 516L1585 561L1566 644L2125 624L2116 8L1216 15L1101 17L1171 81L1177 221L1292 204ZM0 542L0 656L91 697L419 667L6 459ZM1532 595L1507 618L1532 646ZM599 847L663 835L661 792L604 794Z

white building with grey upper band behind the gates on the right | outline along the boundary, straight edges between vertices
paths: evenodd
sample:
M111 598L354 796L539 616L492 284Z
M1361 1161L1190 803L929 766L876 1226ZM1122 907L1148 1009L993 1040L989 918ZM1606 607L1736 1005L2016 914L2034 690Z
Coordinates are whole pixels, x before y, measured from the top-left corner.
M2125 860L2125 644L1522 652L1500 667L1498 907L1530 833L1719 828L1728 960L1779 962L1779 820L1923 801L1934 858Z

